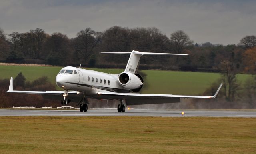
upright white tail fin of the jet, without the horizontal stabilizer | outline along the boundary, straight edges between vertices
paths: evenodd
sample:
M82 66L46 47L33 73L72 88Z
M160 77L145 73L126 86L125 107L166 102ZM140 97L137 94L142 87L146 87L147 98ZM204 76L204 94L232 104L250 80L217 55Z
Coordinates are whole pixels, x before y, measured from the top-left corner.
M136 74L138 71L138 65L140 63L140 57L142 56L142 54L135 54L138 53L138 51L132 51L130 58L128 60L128 63L126 65L125 68L125 72L130 72L132 74Z

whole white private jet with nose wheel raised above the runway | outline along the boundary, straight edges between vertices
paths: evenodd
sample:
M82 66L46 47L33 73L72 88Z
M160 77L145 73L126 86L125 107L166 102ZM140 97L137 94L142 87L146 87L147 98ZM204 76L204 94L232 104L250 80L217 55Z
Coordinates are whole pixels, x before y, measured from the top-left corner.
M64 67L56 76L56 84L64 91L18 91L13 90L12 77L7 92L40 94L48 99L64 99L62 104L78 102L80 112L86 112L88 108L87 98L93 99L116 99L120 100L117 106L118 112L125 112L127 105L161 104L180 102L180 98L216 98L220 87L214 96L184 96L172 94L138 94L143 86L143 79L137 74L140 57L142 55L188 55L168 54L152 52L101 52L107 54L130 54L130 58L124 72L120 74L107 74L93 70L76 67ZM72 90L72 91L69 91Z

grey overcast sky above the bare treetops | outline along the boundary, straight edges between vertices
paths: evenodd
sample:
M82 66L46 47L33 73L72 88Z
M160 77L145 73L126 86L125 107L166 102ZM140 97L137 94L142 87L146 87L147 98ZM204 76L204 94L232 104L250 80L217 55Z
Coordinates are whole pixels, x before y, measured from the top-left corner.
M256 0L1 0L6 34L42 28L69 38L87 27L156 27L170 37L184 30L194 42L237 44L256 35Z

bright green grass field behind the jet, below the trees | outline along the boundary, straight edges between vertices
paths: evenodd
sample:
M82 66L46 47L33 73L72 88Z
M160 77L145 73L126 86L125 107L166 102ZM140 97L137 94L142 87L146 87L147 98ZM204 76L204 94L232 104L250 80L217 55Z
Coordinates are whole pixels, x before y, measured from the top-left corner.
M27 80L35 80L40 76L48 76L50 81L55 84L55 77L61 67L43 67L43 66L1 66L0 78L15 77L19 72L24 74ZM90 68L91 69L91 68ZM106 73L120 73L123 69L96 69ZM160 71L143 70L147 74L145 87L142 93L152 94L183 94L197 95L202 94L206 88L215 82L220 74L201 73L201 72L179 72L179 71ZM239 74L238 80L243 83L251 75Z

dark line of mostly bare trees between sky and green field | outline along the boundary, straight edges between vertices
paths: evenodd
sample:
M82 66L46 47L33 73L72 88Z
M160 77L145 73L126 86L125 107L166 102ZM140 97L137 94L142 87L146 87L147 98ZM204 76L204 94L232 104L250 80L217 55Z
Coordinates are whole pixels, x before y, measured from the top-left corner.
M75 38L55 32L47 34L36 28L29 32L4 34L0 29L0 61L59 66L82 64L98 68L124 68L127 55L106 55L107 52L164 52L190 56L144 56L140 69L189 70L220 72L220 64L233 58L240 72L248 72L255 64L248 63L254 54L256 36L245 36L238 44L194 43L182 30L166 36L153 28L113 26L104 32L85 28ZM252 50L252 51L250 51ZM249 69L250 68L250 69Z

